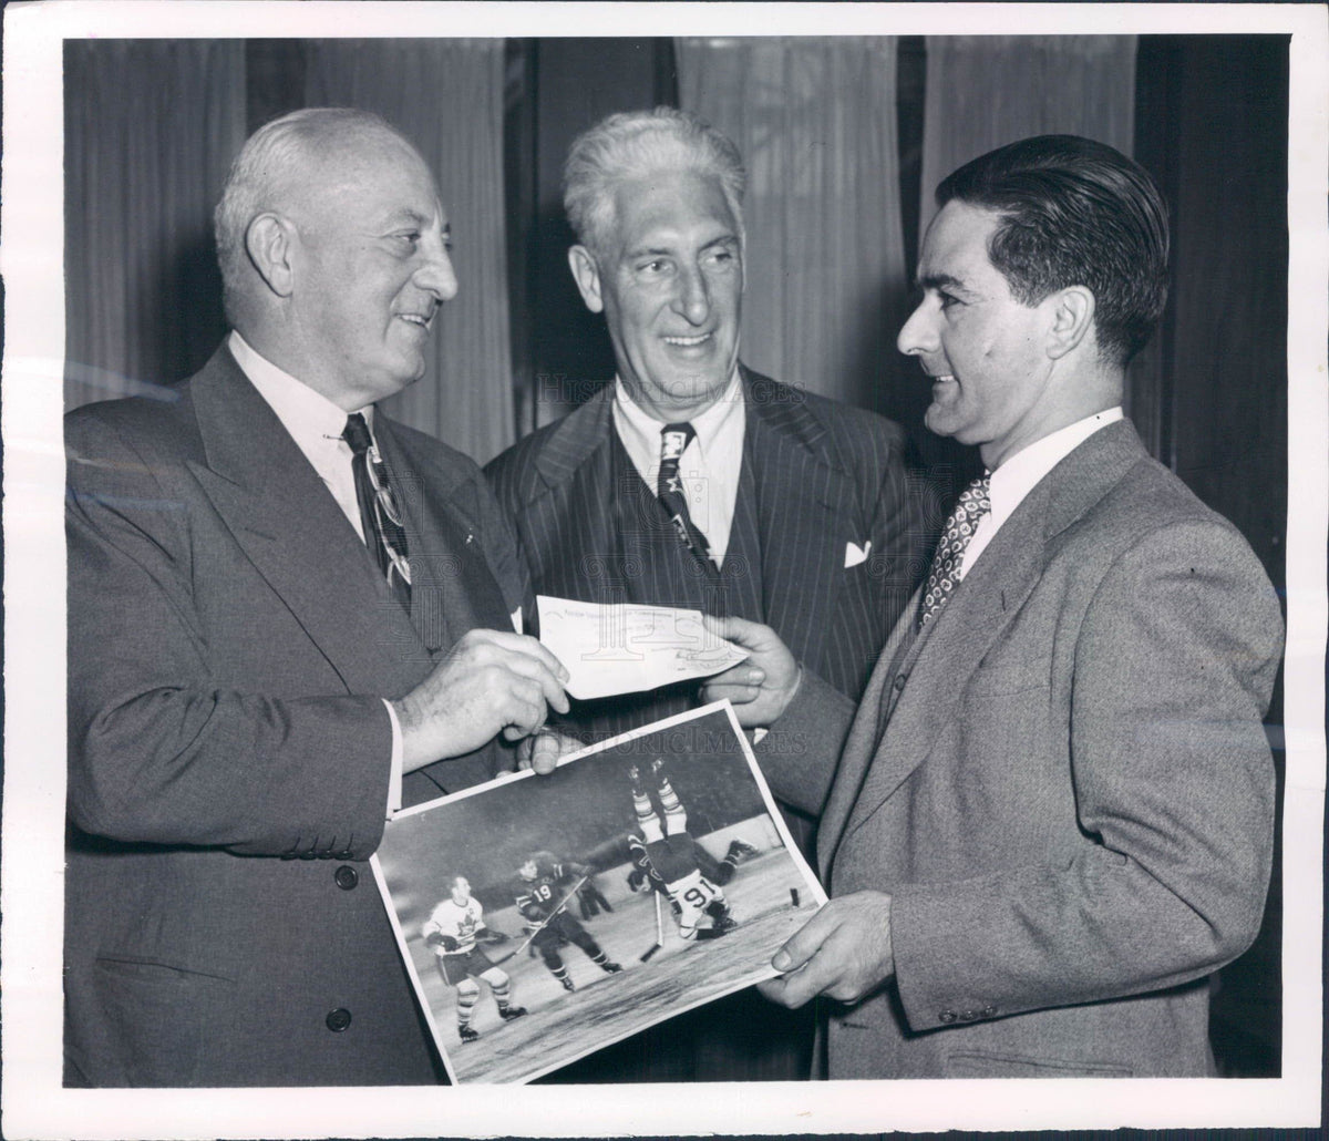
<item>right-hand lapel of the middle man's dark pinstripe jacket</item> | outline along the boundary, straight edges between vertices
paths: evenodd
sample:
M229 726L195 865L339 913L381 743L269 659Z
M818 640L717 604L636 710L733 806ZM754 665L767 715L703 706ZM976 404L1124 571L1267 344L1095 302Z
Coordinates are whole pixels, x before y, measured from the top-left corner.
M820 420L743 370L766 622L813 668L844 581L844 543L864 537L857 493ZM840 536L844 536L844 540Z

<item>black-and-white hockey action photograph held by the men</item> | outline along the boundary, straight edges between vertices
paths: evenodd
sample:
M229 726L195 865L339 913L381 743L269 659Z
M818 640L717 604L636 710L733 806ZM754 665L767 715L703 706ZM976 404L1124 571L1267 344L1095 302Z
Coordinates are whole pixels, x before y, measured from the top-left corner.
M727 703L403 811L372 864L457 1082L530 1081L769 979L825 900Z

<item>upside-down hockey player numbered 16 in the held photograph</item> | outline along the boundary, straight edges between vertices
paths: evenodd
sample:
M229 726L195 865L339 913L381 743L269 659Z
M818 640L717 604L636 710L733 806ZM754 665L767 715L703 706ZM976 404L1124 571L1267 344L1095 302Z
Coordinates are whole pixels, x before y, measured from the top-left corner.
M647 882L657 890L663 888L674 904L674 919L683 939L718 939L731 931L738 924L730 915L720 884L702 874L698 854L704 854L706 850L687 832L687 811L664 773L664 762L657 757L650 765L659 813L642 783L641 767L633 765L627 775L633 782L633 809L638 827L638 832L629 836L634 862L629 886L635 891L634 876L645 872ZM739 858L752 851L742 840L730 843L730 850L719 864L723 882L732 878ZM637 883L642 882L642 878L637 879ZM710 916L710 927L698 926L703 915Z

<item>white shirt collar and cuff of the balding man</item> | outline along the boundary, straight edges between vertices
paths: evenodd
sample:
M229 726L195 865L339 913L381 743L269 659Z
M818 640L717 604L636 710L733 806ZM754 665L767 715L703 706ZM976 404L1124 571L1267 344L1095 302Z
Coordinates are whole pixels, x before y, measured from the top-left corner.
M342 439L346 431L347 412L334 404L322 392L315 392L303 380L296 380L290 372L278 368L266 356L260 356L243 336L231 331L227 347L250 383L282 422L282 427L295 440L295 445L312 464L319 479L332 492L342 513L364 540L360 524L360 501L355 496L355 475L351 471L351 445ZM373 406L356 410L369 426L373 436ZM401 807L401 725L392 702L383 703L392 722L392 769L388 778L388 818Z

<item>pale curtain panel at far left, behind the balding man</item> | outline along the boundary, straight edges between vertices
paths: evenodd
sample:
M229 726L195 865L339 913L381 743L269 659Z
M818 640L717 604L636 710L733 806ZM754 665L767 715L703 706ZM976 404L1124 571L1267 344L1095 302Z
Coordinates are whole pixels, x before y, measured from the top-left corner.
M150 391L221 340L213 206L245 140L239 40L65 44L65 406Z

